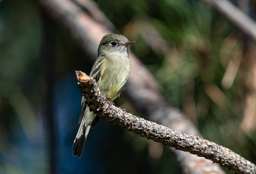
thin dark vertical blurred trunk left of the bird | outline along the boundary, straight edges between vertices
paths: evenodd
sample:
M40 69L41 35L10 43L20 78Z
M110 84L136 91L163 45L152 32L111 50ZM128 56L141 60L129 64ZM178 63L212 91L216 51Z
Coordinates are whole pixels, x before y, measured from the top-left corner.
M53 117L53 85L54 85L54 51L52 44L53 32L52 25L48 16L42 14L42 30L43 30L43 65L44 65L44 82L45 82L45 108L44 115L46 119L45 128L48 130L48 147L49 147L49 173L56 172L56 137L58 137L55 131L55 125L57 123L56 117Z

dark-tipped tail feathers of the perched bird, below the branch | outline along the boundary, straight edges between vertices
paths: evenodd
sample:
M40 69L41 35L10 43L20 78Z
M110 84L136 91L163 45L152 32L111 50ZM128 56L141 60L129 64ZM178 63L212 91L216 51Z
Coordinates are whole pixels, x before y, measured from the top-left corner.
M86 118L87 116L84 115L79 130L76 134L74 143L72 145L73 156L77 155L78 158L82 156L83 146L86 143L86 138L92 124L90 123L89 125L86 125Z

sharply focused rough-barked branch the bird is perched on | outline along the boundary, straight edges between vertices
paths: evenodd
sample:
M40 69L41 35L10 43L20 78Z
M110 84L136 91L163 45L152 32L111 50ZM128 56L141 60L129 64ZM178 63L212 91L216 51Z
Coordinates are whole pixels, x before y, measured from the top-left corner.
M127 113L101 96L93 77L81 71L76 72L76 77L78 85L88 101L90 111L93 111L99 117L155 142L210 159L223 167L234 170L238 174L256 173L256 166L253 163L230 149L204 138L182 133Z

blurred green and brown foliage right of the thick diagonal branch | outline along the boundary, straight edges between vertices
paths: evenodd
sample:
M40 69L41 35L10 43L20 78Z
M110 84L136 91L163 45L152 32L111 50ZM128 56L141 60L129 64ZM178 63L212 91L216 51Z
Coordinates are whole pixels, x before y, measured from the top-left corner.
M255 122L251 120L249 132L241 125L245 98L250 94L244 87L249 69L241 63L233 84L227 88L222 84L227 62L248 46L246 37L201 1L96 2L122 33L136 41L131 50L164 88L170 103L183 110L207 140L255 163ZM125 17L118 22L117 15ZM149 26L160 34L164 47L156 40L159 48L150 45L152 32L145 34ZM233 42L234 47L230 46ZM227 53L223 56L222 52Z

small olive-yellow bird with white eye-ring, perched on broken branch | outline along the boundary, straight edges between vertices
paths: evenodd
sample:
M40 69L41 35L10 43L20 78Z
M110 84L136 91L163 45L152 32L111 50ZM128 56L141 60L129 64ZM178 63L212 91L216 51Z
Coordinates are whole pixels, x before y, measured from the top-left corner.
M98 58L95 61L90 76L92 76L101 91L101 95L113 102L119 97L127 82L131 62L129 58L129 46L135 41L129 41L121 34L111 33L104 36L98 47ZM73 156L82 156L90 128L94 128L100 117L90 112L87 100L82 96L81 114L78 120L80 127L72 145Z

